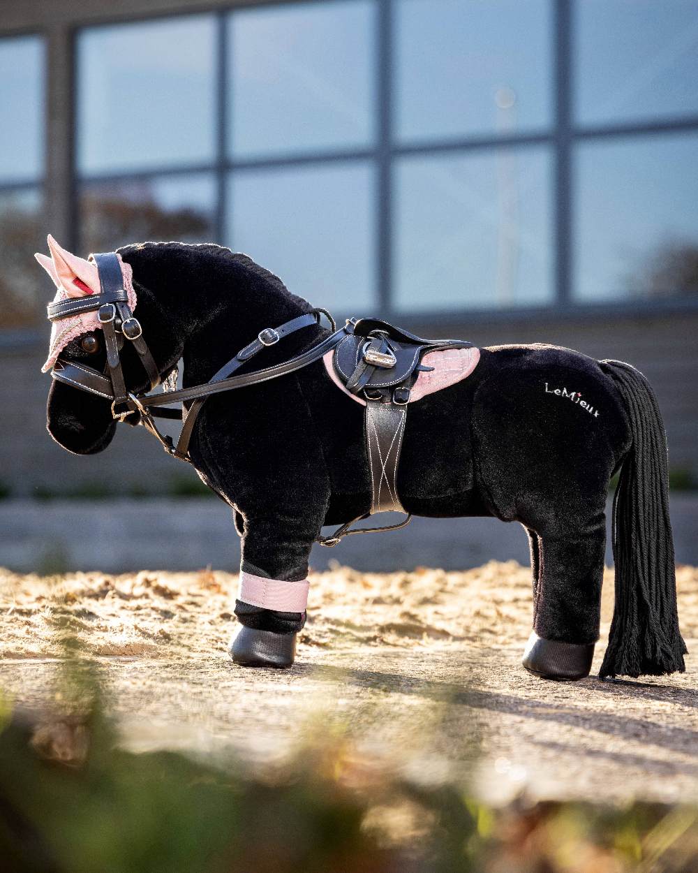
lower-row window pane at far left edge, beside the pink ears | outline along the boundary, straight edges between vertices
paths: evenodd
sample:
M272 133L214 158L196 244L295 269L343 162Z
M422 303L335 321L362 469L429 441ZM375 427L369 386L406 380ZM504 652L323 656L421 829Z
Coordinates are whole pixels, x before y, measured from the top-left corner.
M40 189L0 192L0 313L2 327L36 326L54 291L51 279L34 260L45 251ZM42 275L43 273L43 275Z

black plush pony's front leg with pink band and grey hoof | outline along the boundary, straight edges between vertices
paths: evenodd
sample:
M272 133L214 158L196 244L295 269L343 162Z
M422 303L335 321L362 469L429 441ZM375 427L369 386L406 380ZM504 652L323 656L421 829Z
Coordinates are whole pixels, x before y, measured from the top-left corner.
M304 519L245 518L235 614L242 628L230 644L243 667L291 667L305 625L308 559L314 537ZM319 527L318 527L319 531Z

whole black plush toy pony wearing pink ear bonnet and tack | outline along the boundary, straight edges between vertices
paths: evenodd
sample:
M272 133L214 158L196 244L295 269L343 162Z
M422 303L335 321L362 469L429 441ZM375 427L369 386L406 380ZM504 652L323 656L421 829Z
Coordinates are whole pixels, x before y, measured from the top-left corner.
M520 522L534 601L524 667L587 676L619 470L600 675L684 670L666 441L637 370L543 344L421 340L379 320L329 331L276 276L214 244L129 245L89 261L49 244L51 258L37 256L58 286L48 430L91 454L119 420L142 423L233 508L236 663L293 662L323 525L342 526L332 543L352 519L402 509ZM146 395L180 359L184 388ZM154 424L181 415L168 399L188 409L176 447Z

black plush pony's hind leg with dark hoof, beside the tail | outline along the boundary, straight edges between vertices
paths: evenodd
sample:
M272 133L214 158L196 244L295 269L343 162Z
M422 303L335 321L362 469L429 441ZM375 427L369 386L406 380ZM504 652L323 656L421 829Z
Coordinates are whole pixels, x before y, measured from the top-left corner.
M527 528L533 571L533 631L523 665L534 676L570 681L592 669L599 639L606 552L603 515L578 530L540 536Z

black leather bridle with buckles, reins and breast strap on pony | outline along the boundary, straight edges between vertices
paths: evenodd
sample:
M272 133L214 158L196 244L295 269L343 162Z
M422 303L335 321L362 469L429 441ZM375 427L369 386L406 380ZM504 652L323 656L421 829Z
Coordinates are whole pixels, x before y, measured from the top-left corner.
M295 319L284 322L279 327L265 327L257 334L255 340L241 348L235 357L220 368L206 384L180 388L175 391L164 391L161 394L148 394L146 391L136 395L127 389L121 369L120 351L126 341L133 344L133 348L138 353L139 360L146 370L149 391L154 390L160 384L160 370L147 347L146 340L143 339L140 321L133 316L131 308L128 306L128 294L123 286L119 258L113 251L91 257L99 272L99 294L50 303L48 318L50 321L57 321L71 315L96 310L105 337L105 370L100 373L99 370L88 367L82 361L67 361L59 355L51 370L51 376L57 382L65 382L74 388L80 388L82 391L111 400L112 416L116 421L123 422L128 416L135 416L130 419L130 422L142 424L160 441L168 455L188 463L191 463L188 446L196 416L209 395L257 385L260 382L269 382L270 379L294 373L296 370L307 367L313 361L318 361L324 354L336 347L351 331L351 321L347 321L345 327L337 330L330 313L325 309L314 309L311 313L299 315ZM319 342L317 346L309 348L306 352L298 354L288 361L276 364L274 367L234 375L236 370L250 361L256 354L262 352L264 348L275 346L279 340L303 327L319 324L323 314L332 324L332 333L325 337L325 340ZM193 401L188 410L183 407L173 409L165 405L171 402L183 403L187 401ZM155 417L176 419L182 422L180 436L176 443L171 436L158 430L154 422Z

